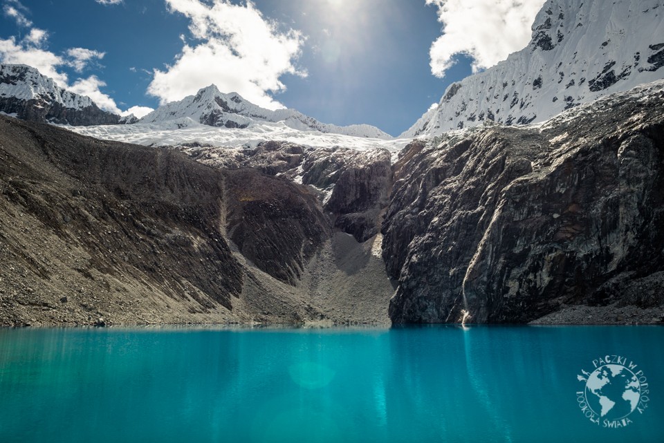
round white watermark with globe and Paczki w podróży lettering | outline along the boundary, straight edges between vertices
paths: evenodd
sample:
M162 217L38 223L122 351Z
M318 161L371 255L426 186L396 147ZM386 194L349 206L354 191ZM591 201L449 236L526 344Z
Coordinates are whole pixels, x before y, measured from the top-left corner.
M584 384L576 393L579 408L597 426L624 428L648 407L648 379L627 357L595 359L591 370L582 369L577 378Z

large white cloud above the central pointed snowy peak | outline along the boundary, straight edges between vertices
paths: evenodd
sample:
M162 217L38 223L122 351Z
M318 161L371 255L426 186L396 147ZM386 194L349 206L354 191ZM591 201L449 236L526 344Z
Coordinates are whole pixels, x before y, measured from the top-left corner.
M171 12L191 20L190 32L200 43L185 43L172 66L154 70L147 92L162 103L181 100L210 84L237 92L269 109L283 107L269 93L284 91L280 77L306 76L293 62L304 44L302 33L282 32L253 3L228 0L166 0Z

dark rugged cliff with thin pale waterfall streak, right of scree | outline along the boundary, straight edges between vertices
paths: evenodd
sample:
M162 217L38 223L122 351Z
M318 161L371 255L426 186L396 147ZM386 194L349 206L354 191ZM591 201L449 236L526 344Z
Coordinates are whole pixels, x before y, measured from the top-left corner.
M415 142L394 166L383 258L394 323L524 323L566 305L664 303L664 92L540 128ZM647 290L639 290L646 288Z

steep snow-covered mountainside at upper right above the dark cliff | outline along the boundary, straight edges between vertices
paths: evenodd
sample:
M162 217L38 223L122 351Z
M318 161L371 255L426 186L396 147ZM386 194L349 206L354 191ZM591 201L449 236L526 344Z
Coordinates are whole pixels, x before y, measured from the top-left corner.
M542 122L565 109L664 78L663 0L547 0L523 50L451 84L400 137ZM498 37L499 38L499 37Z

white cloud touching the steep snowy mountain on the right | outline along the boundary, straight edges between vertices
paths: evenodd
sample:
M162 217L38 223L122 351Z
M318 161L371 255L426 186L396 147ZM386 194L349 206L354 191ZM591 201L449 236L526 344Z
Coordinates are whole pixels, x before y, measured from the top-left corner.
M472 70L489 68L523 49L544 0L426 0L438 8L443 35L430 49L431 71L443 77L454 56L472 58Z

